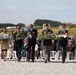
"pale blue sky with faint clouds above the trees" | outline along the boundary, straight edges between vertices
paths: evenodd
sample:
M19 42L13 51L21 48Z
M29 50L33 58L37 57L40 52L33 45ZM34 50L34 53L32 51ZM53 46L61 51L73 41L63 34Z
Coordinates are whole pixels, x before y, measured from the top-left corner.
M76 23L76 0L0 0L0 23L24 23L36 19Z

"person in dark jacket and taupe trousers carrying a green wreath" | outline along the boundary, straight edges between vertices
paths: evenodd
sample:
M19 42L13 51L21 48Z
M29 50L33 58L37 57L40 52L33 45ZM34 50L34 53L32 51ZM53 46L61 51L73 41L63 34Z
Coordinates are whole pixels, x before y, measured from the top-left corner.
M53 31L49 29L49 25L46 24L44 30L42 31L42 35L46 34L47 36L49 32L51 34L53 33ZM52 46L52 40L51 39L43 40L43 45L44 45L44 53L45 53L45 63L47 63L50 62L50 51Z

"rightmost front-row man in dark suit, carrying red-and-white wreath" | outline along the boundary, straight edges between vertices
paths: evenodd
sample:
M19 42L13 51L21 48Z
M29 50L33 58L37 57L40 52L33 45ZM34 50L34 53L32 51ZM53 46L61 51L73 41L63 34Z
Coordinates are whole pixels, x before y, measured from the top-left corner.
M58 35L68 35L68 30L66 30L66 24L61 24L62 30L60 30L58 32ZM68 40L64 39L64 40L59 40L60 42L60 46L62 47L62 63L65 62L65 58L66 58L66 51L67 51L67 45L68 45Z

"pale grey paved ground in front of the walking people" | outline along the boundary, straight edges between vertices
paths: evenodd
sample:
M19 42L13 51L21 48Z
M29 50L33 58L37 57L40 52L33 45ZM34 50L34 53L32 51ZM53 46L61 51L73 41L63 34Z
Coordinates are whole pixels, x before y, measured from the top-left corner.
M76 60L67 60L63 64L60 60L50 63L44 63L43 59L34 63L0 60L0 75L76 75Z

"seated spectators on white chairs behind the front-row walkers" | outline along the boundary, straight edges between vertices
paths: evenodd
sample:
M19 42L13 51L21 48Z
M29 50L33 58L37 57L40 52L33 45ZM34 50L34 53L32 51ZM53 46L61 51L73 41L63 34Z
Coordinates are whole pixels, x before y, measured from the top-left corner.
M41 45L40 43L41 40L37 40L37 44L35 45L35 58L43 58L44 59L44 47ZM13 51L13 41L11 40L11 43L9 44L9 49L7 51L7 58L9 59L13 59L13 58L17 58L15 56L15 51ZM57 43L58 44L58 43ZM56 45L56 44L55 44ZM61 59L61 47L60 46L56 46L57 50L55 50L54 46L52 46L52 49L51 49L51 53L50 53L50 57L51 59ZM24 46L22 47L22 51L21 51L21 57L27 57L27 61L28 61L28 57L30 57L30 59L32 58L32 54L30 51L30 55L28 56L28 39L25 39L24 40ZM75 53L75 46L73 44L73 41L72 40L69 40L68 42L68 46L67 46L67 55L66 55L66 58L69 57L69 60L74 60L75 59L75 56L76 56L76 53ZM1 53L0 53L1 55ZM69 55L69 56L68 56ZM1 56L0 56L0 59L1 59Z

